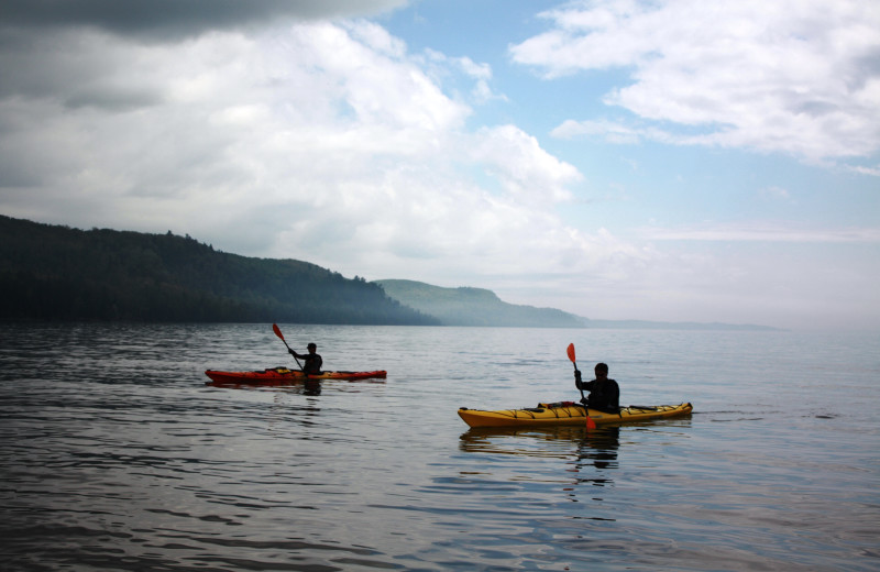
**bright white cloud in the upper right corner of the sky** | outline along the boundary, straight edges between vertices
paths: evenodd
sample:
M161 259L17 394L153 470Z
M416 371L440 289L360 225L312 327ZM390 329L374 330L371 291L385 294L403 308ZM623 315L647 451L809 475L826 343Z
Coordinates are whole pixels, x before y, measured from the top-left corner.
M625 132L623 142L814 162L880 148L880 10L871 2L602 0L541 15L552 29L512 46L513 59L548 79L625 70L631 82L603 101L639 118L627 127L570 120L558 135Z

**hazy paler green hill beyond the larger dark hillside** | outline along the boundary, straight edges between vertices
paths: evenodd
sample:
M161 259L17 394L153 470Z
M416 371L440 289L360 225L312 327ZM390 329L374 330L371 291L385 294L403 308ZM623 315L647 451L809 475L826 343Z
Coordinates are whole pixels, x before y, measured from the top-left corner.
M553 308L517 306L482 288L442 288L413 280L376 280L400 304L439 318L443 326L583 328L584 319Z

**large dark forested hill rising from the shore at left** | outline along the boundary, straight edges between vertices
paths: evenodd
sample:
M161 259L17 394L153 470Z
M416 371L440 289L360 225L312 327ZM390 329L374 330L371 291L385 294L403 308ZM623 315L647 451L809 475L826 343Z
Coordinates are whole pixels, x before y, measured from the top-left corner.
M0 320L437 324L363 278L189 237L0 216Z

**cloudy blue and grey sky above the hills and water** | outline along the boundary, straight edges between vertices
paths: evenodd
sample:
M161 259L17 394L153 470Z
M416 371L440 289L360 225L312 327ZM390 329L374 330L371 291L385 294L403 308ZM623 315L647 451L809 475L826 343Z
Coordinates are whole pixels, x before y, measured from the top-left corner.
M880 331L880 2L4 0L0 215Z

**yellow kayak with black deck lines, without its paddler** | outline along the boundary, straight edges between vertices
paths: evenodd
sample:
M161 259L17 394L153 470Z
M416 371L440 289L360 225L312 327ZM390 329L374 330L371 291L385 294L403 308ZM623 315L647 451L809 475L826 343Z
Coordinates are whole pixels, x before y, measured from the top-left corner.
M620 413L608 414L597 409L590 409L590 418L596 425L626 424L632 421L650 421L666 417L680 417L690 415L693 410L691 404L641 406L630 405ZM482 411L480 409L459 409L459 417L471 427L527 427L527 426L554 426L554 425L585 425L584 407L574 402L554 404L538 404L538 407L527 409L502 409L497 411Z

